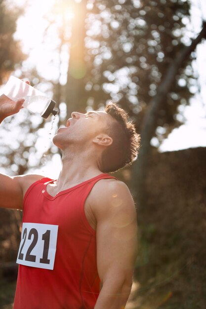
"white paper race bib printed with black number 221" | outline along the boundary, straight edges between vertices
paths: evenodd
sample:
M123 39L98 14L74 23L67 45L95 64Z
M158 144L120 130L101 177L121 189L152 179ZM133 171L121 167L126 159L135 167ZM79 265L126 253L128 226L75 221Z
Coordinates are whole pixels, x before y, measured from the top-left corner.
M53 270L58 225L23 223L16 263Z

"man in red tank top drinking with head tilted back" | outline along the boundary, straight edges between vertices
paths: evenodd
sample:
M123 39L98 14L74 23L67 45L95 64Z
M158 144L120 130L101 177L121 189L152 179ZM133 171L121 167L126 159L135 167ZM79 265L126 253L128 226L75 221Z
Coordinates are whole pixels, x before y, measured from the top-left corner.
M0 121L23 101L0 96ZM24 211L14 309L123 309L136 259L136 212L126 185L107 173L132 162L139 135L111 104L104 112L72 113L53 143L63 153L56 181L0 175L0 206Z

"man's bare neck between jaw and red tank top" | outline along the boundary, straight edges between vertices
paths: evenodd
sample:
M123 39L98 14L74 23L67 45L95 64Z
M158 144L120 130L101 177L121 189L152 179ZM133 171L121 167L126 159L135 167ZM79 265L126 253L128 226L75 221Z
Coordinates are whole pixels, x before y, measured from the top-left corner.
M62 170L56 181L58 188L72 187L101 174L96 154L87 151L64 151L62 156Z

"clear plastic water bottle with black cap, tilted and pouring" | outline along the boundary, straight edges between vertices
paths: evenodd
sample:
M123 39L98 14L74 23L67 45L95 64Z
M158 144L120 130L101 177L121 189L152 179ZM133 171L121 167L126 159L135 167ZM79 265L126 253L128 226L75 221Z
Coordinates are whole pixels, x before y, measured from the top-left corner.
M57 114L54 110L55 101L46 98L41 91L17 77L9 77L3 88L3 94L14 102L23 98L25 101L22 106L32 113L39 113L43 118L47 118L50 113L54 116Z

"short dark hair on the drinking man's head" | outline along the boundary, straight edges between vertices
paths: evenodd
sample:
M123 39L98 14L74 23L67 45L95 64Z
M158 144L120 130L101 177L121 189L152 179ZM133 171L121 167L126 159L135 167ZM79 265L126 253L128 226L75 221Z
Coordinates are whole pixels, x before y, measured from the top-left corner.
M104 111L115 121L110 121L107 128L107 133L112 137L113 143L102 153L101 171L116 172L130 165L137 157L140 135L137 134L134 124L129 121L126 112L116 103L108 104Z

